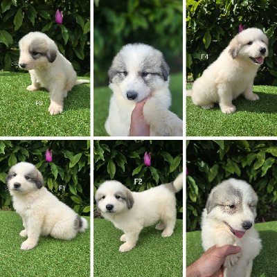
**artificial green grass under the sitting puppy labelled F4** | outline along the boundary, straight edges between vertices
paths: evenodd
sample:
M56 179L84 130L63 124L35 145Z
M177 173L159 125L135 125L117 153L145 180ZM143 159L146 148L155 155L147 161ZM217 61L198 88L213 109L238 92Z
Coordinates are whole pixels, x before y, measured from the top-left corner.
M186 97L186 136L277 136L277 88L254 86L253 91L260 100L239 96L233 100L233 114L223 114L218 104L202 109Z

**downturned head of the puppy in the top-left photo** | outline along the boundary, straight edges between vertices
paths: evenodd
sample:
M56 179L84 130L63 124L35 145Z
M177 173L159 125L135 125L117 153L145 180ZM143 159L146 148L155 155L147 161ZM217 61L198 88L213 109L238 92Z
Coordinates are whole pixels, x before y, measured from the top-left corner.
M57 57L57 46L44 33L31 32L19 41L21 69L45 69Z

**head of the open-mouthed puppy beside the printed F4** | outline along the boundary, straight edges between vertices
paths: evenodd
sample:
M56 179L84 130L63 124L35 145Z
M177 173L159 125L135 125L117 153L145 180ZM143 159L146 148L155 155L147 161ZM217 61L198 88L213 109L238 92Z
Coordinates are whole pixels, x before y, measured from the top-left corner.
M229 53L235 59L242 57L260 65L268 55L267 36L258 28L249 28L236 35L230 42Z

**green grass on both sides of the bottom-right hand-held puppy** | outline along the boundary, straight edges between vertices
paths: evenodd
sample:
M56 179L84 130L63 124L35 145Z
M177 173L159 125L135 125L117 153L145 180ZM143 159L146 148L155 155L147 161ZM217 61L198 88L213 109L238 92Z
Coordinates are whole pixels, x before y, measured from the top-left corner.
M262 240L262 250L253 262L251 276L276 277L277 252L276 230L277 221L255 224ZM203 253L201 245L201 231L186 233L186 266L191 265Z

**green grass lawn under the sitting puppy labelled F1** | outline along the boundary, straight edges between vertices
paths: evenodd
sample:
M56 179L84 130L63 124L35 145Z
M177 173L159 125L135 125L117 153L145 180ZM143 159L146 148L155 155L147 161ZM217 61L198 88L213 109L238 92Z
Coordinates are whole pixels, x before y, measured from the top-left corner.
M37 247L24 251L20 250L26 240L19 235L23 229L21 217L15 212L0 211L0 222L1 276L91 276L90 229L69 241L41 237Z

